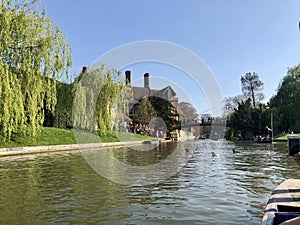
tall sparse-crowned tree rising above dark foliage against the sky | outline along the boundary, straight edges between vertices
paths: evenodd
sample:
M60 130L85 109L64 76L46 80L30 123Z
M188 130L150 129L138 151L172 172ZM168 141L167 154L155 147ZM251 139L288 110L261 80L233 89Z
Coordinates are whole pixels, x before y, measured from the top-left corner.
M264 83L256 73L246 73L241 77L242 92L246 98L251 98L252 105L256 108L257 103L264 99L264 94L259 92L264 88Z

